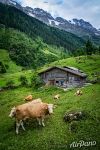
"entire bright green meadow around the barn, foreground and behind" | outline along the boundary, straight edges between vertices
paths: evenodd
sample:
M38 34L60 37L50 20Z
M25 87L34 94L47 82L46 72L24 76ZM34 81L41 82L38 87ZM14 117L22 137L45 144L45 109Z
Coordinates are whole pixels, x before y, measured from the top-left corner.
M19 85L19 77L25 75L28 80L34 73L32 70L23 70L14 64L6 50L2 50L0 59L10 67L7 73L0 75L0 87L6 82L13 80L15 85ZM40 68L38 72L51 66L73 66L88 74L92 79L92 74L100 72L100 56L67 58L56 61ZM19 87L17 89L4 90L0 92L0 150L99 150L100 149L100 84L96 83L83 87L83 95L75 96L76 89L63 91L56 87L42 87L39 89L29 87ZM54 100L53 96L59 93L59 100ZM40 127L36 120L25 122L26 131L20 128L19 135L15 134L15 120L8 117L13 106L23 104L24 97L32 94L33 98L41 98L44 102L57 105L54 114L45 119L45 127ZM65 112L71 110L81 110L86 113L84 119L74 122L73 130L69 131L69 123L65 123L63 116ZM96 141L95 146L72 147L72 142Z

